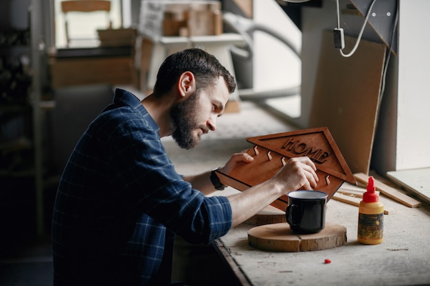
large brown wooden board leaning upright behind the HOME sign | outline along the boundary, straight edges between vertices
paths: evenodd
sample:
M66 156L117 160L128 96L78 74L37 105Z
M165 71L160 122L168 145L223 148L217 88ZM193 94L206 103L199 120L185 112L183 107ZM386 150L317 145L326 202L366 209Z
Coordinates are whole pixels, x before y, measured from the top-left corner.
M346 47L356 38L346 37ZM385 45L361 40L350 58L324 32L309 126L327 126L352 173L369 174L378 116Z

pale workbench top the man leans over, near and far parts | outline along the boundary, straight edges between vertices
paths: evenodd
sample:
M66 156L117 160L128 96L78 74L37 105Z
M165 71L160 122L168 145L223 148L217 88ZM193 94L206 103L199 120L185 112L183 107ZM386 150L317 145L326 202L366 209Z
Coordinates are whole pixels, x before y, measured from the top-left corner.
M247 137L290 130L294 127L256 104L242 102L240 113L220 117L216 132L203 136L193 150L181 150L170 137L163 138L163 144L179 174L199 174L222 166L234 152L251 147ZM227 187L214 195L237 192ZM212 244L242 285L430 285L429 204L409 208L385 195L380 195L380 200L389 215L384 217L384 241L376 246L357 243L359 208L333 199L327 204L326 223L347 228L343 246L314 252L259 250L249 246L247 231L254 225L246 222ZM324 263L325 259L331 263ZM201 267L207 268L208 261L204 261ZM196 266L190 270L193 275L199 275Z

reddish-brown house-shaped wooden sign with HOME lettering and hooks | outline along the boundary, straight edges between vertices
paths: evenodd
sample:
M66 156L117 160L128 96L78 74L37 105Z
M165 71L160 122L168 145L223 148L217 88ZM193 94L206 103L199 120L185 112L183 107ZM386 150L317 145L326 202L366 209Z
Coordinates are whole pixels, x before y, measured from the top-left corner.
M253 147L247 153L251 163L243 163L229 174L217 171L223 184L245 191L249 187L269 180L285 165L289 158L308 156L317 167L317 191L328 194L328 200L343 182L357 184L328 128L312 128L247 138ZM285 211L288 197L282 195L271 204Z

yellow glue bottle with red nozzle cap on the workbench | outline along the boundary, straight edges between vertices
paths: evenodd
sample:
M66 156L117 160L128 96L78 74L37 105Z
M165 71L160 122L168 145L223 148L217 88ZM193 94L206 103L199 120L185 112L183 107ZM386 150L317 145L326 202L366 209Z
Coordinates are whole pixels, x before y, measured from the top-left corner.
M369 177L366 192L359 206L359 228L357 241L364 244L379 244L383 241L384 206L379 202L374 179Z

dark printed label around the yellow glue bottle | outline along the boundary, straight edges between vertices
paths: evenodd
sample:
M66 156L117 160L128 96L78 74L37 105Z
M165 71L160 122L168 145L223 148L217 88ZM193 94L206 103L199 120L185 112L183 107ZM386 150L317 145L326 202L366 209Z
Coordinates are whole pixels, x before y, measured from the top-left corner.
M382 239L384 214L365 215L359 213L358 237L363 239Z

